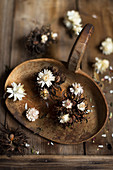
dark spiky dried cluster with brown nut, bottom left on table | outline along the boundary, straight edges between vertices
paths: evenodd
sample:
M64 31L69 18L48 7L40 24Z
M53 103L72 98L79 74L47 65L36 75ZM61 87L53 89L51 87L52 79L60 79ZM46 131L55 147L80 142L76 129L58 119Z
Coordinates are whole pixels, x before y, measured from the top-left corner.
M19 129L10 129L8 125L5 127L2 125L0 128L0 154L2 155L16 155L25 154L25 148L27 148L26 135Z

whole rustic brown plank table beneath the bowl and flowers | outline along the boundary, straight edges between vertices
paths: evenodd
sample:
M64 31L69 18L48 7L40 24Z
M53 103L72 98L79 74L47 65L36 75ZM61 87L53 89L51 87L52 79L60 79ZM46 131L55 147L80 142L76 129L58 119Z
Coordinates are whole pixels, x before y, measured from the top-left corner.
M113 67L113 54L103 55L98 46L106 37L113 38L113 1L112 0L0 0L0 122L8 123L10 127L21 127L29 137L30 147L25 156L1 156L0 169L23 168L31 169L113 169L113 119L107 122L105 128L92 140L78 145L51 145L50 141L34 135L22 127L5 108L3 94L4 83L7 78L6 66L11 69L31 59L25 52L23 37L36 26L51 24L54 32L58 32L59 41L49 48L45 57L67 61L70 49L75 39L70 38L60 19L67 10L78 10L83 25L92 23L95 27L94 34L86 50L82 69L90 76L93 69L89 63L95 61L95 57L107 58ZM93 17L96 15L96 18ZM57 49L57 50L56 50ZM41 57L38 56L38 57ZM110 75L107 71L105 75ZM104 76L104 75L103 75ZM105 97L109 110L113 112L113 83L104 82ZM101 106L100 106L101 107ZM106 138L102 134L107 135ZM98 148L98 145L103 148ZM107 147L110 144L111 148ZM39 155L34 155L31 149L39 150ZM84 156L85 155L85 156Z

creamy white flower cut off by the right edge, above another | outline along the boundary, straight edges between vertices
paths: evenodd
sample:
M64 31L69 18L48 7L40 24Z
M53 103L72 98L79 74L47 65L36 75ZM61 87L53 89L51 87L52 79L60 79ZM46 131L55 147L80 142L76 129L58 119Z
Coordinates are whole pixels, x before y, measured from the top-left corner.
M103 54L109 55L113 53L113 40L112 38L106 38L105 41L101 43L100 50L102 50Z

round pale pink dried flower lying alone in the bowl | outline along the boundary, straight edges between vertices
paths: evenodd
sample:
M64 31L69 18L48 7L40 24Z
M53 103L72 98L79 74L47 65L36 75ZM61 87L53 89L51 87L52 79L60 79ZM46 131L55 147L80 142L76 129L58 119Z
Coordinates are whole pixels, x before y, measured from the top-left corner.
M39 111L35 108L29 108L26 111L26 117L29 121L33 122L39 117Z

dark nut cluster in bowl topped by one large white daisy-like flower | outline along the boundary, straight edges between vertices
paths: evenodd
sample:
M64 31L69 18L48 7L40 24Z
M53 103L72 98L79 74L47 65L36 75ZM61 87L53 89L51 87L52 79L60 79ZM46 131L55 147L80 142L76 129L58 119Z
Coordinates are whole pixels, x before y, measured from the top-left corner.
M66 77L57 67L43 68L37 73L37 87L40 97L47 100L49 97L57 97L60 85L65 82Z

